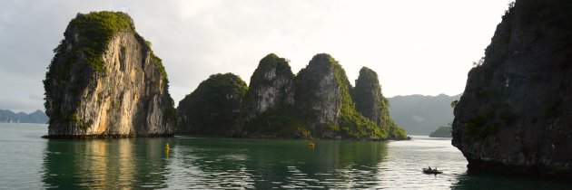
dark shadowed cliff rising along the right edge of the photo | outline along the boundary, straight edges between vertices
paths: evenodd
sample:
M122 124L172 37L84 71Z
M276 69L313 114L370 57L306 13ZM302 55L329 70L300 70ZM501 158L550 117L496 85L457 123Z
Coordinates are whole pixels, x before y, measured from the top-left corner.
M455 107L468 167L572 176L572 2L518 0Z

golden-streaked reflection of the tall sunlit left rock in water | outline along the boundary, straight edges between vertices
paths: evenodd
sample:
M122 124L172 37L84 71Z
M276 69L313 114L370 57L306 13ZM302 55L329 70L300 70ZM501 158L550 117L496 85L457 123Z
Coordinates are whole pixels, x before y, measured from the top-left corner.
M167 187L163 146L169 138L49 140L44 152L46 187L63 189Z

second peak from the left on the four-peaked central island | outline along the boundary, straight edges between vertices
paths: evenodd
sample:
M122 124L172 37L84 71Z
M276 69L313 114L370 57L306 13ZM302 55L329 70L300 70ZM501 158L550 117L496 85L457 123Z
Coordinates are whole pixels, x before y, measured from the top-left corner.
M292 106L293 79L288 60L274 53L261 59L242 102L244 131L288 138L303 126Z

